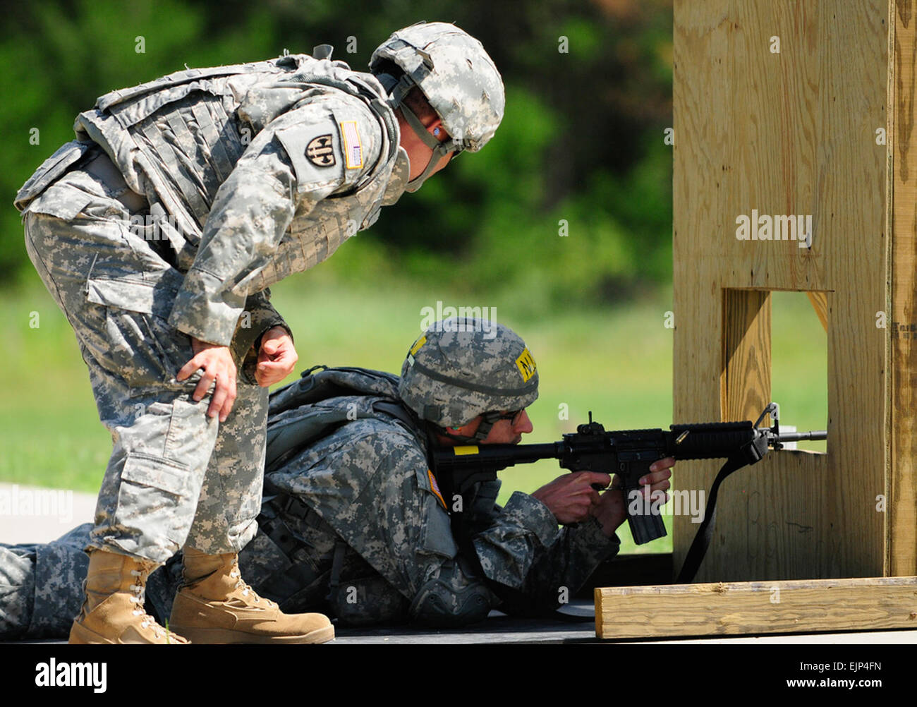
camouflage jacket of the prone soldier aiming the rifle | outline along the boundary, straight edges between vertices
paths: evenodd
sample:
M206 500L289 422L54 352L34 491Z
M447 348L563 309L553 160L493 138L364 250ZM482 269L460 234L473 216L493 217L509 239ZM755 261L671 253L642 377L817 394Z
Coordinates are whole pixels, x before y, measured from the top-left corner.
M501 507L496 503L500 481L479 484L477 495L464 509L474 514L472 522L462 525L467 536L457 536L427 463L425 432L403 415L386 411L387 404L398 403L398 378L383 375L388 380L374 384L375 394L285 405L284 389L272 393L268 485L321 516L359 554L361 564L384 580L375 582L370 597L361 598L357 606L336 602L337 610L332 609L338 616L350 611L390 618L378 607L362 604L394 605L383 596L387 590L400 594L404 606L413 609L425 585L437 578L447 578L452 586L479 585L492 608L508 613L557 609L558 602L579 590L603 559L617 552L617 537L602 535L594 519L558 528L547 506L527 493L514 492ZM278 458L279 439L271 432L294 423L297 416L316 414L346 422ZM316 540L320 534L315 534L315 523L304 524L293 515L285 516L293 534L302 532L309 547L325 543ZM302 561L323 571L314 557L317 553L309 547L301 553ZM348 583L347 578L342 583ZM287 599L274 598L282 604ZM309 597L303 599L307 605ZM302 610L295 602L288 605Z

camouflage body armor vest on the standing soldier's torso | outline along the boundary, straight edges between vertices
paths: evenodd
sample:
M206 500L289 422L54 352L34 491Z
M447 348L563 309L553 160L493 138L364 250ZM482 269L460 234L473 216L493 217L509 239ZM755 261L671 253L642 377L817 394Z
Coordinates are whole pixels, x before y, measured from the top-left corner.
M127 185L147 197L150 216L171 242L176 267L185 272L216 191L251 139L293 108L347 100L343 94L359 98L379 121L380 157L347 193L332 194L308 214L293 216L272 260L238 283L236 289L247 295L325 260L395 200L387 202L385 192L398 152L398 126L374 76L305 54L190 69L103 95L93 110L77 116L74 129L77 138L101 145Z

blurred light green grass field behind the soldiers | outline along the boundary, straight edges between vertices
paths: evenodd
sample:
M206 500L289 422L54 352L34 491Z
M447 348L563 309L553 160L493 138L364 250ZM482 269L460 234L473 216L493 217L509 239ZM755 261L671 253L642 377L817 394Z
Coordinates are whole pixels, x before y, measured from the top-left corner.
M541 393L529 411L535 431L525 441L558 439L584 422L589 411L606 429L671 422L672 330L664 326L670 293L572 313L558 303L536 321L519 321L512 316L519 293L484 301L450 299L436 288L396 278L384 287L359 278L340 282L321 268L310 278L293 280L298 282L282 282L272 290L275 306L293 326L299 370L325 363L397 372L420 331L423 307L436 307L437 299L445 305L487 305L496 307L497 321L525 337L538 364ZM0 380L0 481L96 492L111 440L98 422L70 326L37 278L0 294L0 301L0 331L11 357L9 374ZM39 326L34 326L36 317ZM778 293L774 322L774 397L784 420L801 429L823 428L823 329L804 295ZM812 374L819 370L820 375ZM514 490L534 491L556 476L558 468L549 461L508 469L502 473L502 500ZM620 535L626 536L624 549L632 550L629 532L624 528ZM670 548L666 537L639 550Z

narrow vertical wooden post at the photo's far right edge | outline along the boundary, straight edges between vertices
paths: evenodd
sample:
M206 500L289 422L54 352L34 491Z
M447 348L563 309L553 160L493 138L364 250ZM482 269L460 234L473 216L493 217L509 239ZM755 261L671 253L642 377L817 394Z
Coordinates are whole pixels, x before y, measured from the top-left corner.
M889 233L891 234L890 468L887 569L917 574L917 17L892 2L889 25Z

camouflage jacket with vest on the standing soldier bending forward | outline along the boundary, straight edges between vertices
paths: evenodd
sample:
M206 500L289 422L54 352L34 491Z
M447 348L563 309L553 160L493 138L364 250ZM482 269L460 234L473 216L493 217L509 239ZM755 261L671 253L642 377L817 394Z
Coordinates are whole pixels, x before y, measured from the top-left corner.
M46 160L17 207L40 208L30 182L100 145L147 198L183 275L144 273L148 291L169 277L157 291L174 292L171 325L228 346L249 294L325 260L403 193L410 165L385 98L371 74L304 54L176 72L77 116L77 140ZM137 273L122 279L130 290Z

